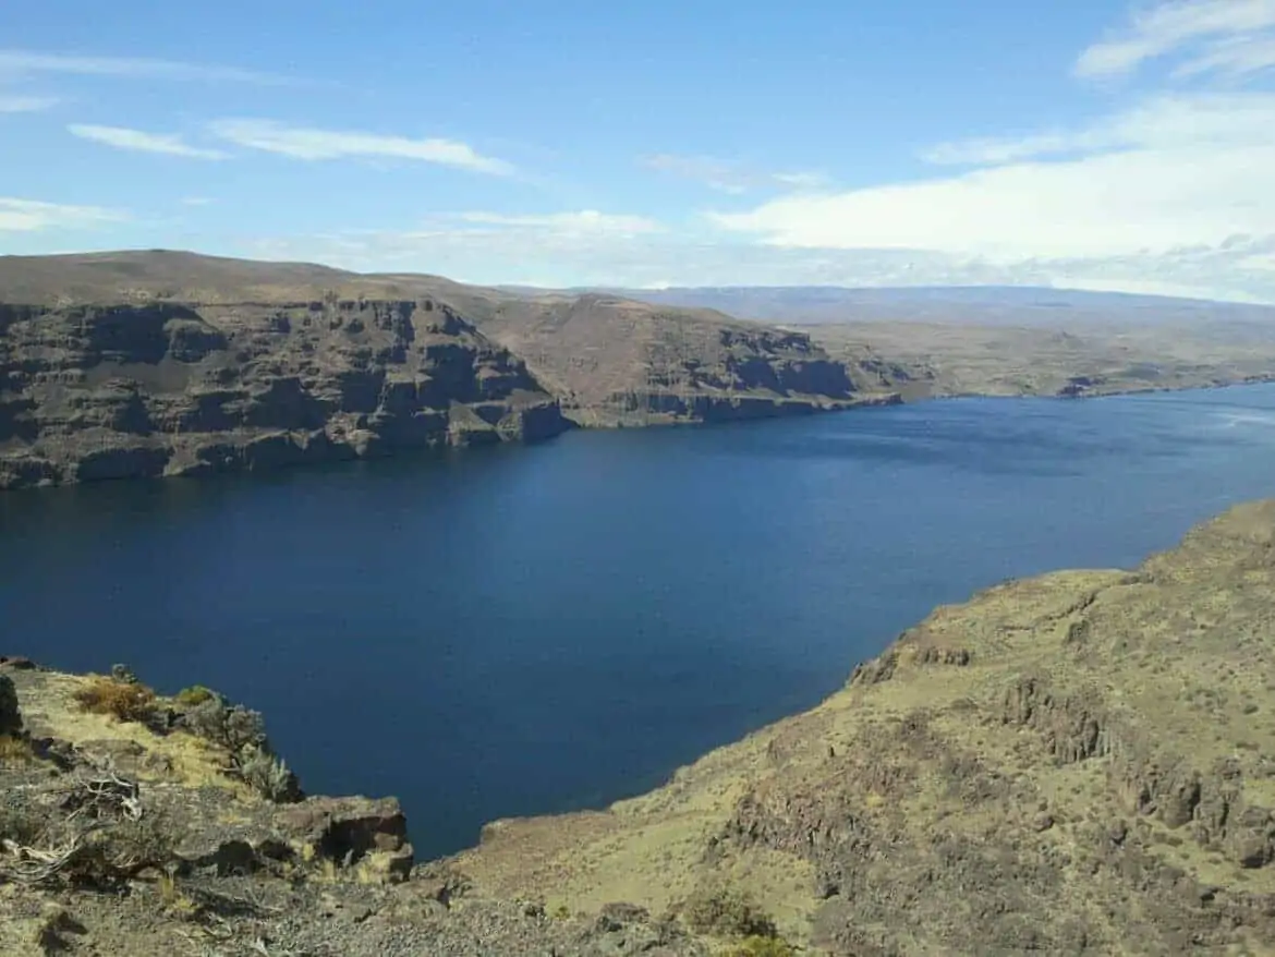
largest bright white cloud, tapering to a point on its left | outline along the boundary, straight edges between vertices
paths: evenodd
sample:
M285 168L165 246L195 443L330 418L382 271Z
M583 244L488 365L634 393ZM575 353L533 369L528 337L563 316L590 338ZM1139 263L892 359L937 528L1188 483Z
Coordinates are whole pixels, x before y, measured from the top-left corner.
M1165 254L1275 235L1275 94L1165 97L1093 128L932 151L956 176L710 213L774 246L996 262ZM1052 162L1043 153L1075 153Z

